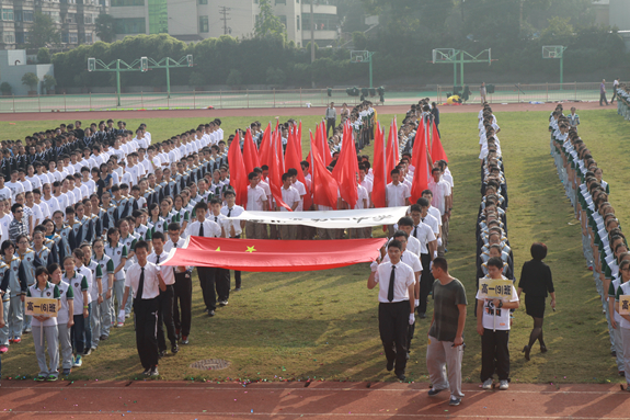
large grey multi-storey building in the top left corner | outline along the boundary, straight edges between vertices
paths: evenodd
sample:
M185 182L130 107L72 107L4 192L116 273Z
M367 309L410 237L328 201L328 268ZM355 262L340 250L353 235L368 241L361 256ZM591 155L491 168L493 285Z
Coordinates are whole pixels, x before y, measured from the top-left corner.
M28 43L35 12L49 15L61 33L61 44L77 46L96 41L94 22L107 13L108 0L2 0L1 49Z

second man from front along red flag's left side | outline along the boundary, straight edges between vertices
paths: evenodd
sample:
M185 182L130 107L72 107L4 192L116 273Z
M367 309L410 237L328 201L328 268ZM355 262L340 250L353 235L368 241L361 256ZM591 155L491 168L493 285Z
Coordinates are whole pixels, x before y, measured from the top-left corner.
M153 234L151 240L153 245L153 252L147 257L149 262L158 265L163 262L169 257L168 252L164 252L164 234L157 231ZM167 337L171 342L171 353L175 354L180 351L177 347L177 338L175 336L175 323L173 322L173 299L174 299L174 284L175 284L175 272L172 268L164 266L161 270L162 279L167 285L164 292L160 291L159 297L159 310L158 310L158 351L160 357L167 354L167 340L164 340L164 328L162 323L167 327Z

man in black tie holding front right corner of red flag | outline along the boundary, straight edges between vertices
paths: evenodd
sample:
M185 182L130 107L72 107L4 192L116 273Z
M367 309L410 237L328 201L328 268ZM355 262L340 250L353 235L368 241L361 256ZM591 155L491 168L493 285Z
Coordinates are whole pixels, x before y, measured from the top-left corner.
M387 370L391 371L396 366L396 376L404 381L406 332L409 326L415 322L413 315L415 279L411 266L400 261L402 254L400 241L391 240L387 254L390 261L371 263L367 288L373 290L379 284L378 329L387 357Z

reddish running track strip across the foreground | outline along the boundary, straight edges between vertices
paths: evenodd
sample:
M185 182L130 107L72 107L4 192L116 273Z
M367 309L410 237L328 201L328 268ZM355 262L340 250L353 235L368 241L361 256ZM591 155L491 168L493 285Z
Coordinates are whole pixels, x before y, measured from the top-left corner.
M628 419L618 385L515 385L486 391L465 384L459 407L448 394L428 397L427 384L234 384L140 381L4 381L0 418L33 419ZM371 386L369 386L371 385Z

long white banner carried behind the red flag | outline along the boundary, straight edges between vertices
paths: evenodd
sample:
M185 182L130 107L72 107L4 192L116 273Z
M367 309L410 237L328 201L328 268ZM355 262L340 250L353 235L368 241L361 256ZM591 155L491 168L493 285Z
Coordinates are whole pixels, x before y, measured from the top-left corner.
M345 229L394 225L404 217L409 207L365 208L329 212L243 212L236 220L270 225L302 225L325 229Z

